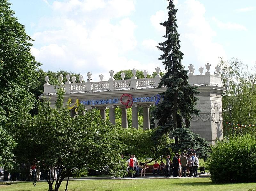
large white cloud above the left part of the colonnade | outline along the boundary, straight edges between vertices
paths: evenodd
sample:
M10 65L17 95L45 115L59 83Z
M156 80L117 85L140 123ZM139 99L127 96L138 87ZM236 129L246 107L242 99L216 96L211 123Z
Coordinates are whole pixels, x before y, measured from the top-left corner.
M110 70L140 65L126 57L137 46L136 25L127 17L135 10L133 0L54 1L51 8L54 15L41 18L32 35L31 52L44 70L90 71L94 80L103 73L107 80Z

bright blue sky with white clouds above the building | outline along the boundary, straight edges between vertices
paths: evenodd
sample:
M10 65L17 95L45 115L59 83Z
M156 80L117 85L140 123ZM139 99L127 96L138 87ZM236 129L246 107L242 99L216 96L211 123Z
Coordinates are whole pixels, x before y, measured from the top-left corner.
M168 17L164 0L9 0L15 17L35 41L31 53L44 71L67 70L99 74L147 70L164 65L156 46L163 42ZM182 64L188 70L210 63L213 74L219 57L256 65L256 1L174 0ZM203 72L203 74L204 74Z

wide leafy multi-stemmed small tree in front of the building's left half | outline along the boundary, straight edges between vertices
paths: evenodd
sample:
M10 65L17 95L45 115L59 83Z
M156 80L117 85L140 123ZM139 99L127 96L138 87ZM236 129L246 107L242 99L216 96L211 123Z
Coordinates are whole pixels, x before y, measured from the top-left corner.
M62 106L64 90L56 91L55 108L44 101L37 115L25 116L26 123L20 124L18 129L23 133L17 135L15 148L18 162L36 158L44 170L60 167L61 177L54 190L58 190L65 177L78 176L89 169L124 177L125 161L120 158L121 150L113 136L116 128L102 121L96 109L70 117L70 111ZM78 112L82 113L83 108L78 107ZM49 175L47 182L52 189Z

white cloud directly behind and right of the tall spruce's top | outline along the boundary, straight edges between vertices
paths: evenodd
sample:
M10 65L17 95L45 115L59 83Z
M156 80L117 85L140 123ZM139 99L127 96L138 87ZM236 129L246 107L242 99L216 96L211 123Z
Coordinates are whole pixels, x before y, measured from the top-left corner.
M222 45L215 42L214 38L217 34L210 26L205 18L205 7L198 0L186 0L178 5L177 24L178 33L180 33L181 51L185 54L183 57L183 65L188 70L188 65L193 64L195 73L199 74L198 68L210 62L212 67L210 72L218 64L218 57L225 57L225 50ZM167 12L157 11L151 16L151 24L160 29L159 21L167 19ZM164 31L164 28L161 32ZM204 67L205 68L205 67ZM205 72L205 69L204 69Z

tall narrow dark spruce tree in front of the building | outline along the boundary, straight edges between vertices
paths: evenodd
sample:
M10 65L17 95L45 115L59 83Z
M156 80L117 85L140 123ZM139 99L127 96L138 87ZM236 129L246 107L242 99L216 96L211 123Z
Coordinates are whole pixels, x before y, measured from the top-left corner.
M157 48L164 52L158 60L162 60L167 72L158 87L164 86L167 89L161 93L163 100L153 112L155 118L159 120L159 128L154 137L156 141L163 134L183 127L183 120L189 128L190 115L199 114L199 110L194 107L197 100L194 96L199 92L196 91L196 87L188 84L188 70L184 70L181 65L184 54L180 51L180 34L177 32L176 24L177 9L174 7L173 0L170 0L167 7L168 20L160 23L166 28L166 35L164 35L166 40L158 44ZM175 144L178 144L178 137L175 137Z

